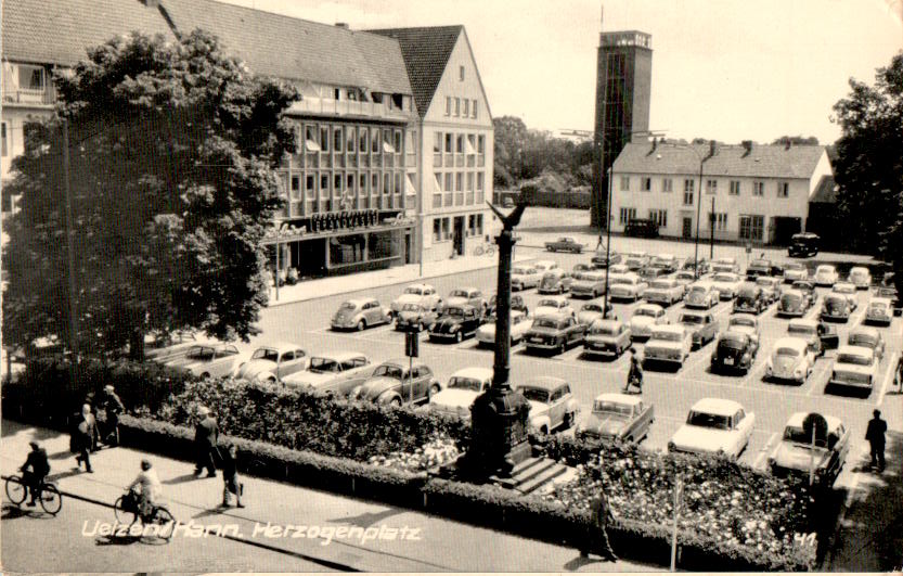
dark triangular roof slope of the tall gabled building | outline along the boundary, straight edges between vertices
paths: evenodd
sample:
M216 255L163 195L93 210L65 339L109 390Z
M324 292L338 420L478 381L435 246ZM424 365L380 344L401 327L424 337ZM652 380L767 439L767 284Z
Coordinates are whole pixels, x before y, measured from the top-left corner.
M463 29L464 26L457 25L369 30L398 40L421 117L426 114L429 103L433 102L439 80L442 79L446 65Z

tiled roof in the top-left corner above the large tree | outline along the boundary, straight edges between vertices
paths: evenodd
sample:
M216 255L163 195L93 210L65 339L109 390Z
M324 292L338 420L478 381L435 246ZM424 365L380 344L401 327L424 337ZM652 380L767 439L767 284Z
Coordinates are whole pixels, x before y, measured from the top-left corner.
M87 49L140 30L175 40L156 8L138 0L5 0L3 60L73 66Z

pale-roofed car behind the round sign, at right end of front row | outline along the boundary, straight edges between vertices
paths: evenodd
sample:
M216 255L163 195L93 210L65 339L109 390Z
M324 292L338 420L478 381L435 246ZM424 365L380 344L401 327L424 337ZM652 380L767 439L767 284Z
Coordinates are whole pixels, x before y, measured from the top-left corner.
M815 437L813 455L812 432L807 432L804 425L808 417L807 412L795 412L787 420L784 435L769 457L769 469L775 476L795 475L808 482L814 465L816 486L830 488L847 462L850 431L839 418L822 415L827 426L824 437Z

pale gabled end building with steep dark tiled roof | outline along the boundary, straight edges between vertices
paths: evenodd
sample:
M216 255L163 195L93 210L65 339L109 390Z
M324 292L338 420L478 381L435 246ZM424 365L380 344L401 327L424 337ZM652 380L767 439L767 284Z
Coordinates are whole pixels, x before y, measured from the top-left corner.
M417 242L441 260L491 241L493 129L463 26L373 30L397 39L414 90L420 192Z

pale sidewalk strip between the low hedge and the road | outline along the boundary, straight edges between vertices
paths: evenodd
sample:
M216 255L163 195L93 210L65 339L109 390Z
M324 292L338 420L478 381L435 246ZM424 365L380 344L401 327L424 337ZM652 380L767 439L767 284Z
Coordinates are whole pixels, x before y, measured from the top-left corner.
M76 472L68 450L68 436L4 420L0 470L13 474L25 461L28 441L38 438L50 456L51 478L63 492L112 504L139 471L144 457L124 448L104 449L92 455L93 474ZM195 479L188 462L151 456L164 484L170 511L182 524L193 522L216 530L215 525L237 525L241 539L291 551L347 567L367 572L650 572L660 566L631 562L607 563L581 559L572 548L450 522L415 511L371 503L265 481L242 477L245 484L244 509L221 509L221 478ZM65 496L64 496L65 499ZM61 514L66 513L65 502ZM108 517L113 521L113 510ZM52 521L51 521L52 522ZM270 528L267 528L268 523ZM278 534L274 526L305 526ZM335 529L360 526L363 536L311 537L310 527ZM407 529L405 529L407 528ZM395 532L392 532L395 529ZM363 532L359 530L359 532ZM304 530L301 534L305 534ZM402 539L401 535L407 534ZM395 536L395 538L392 538ZM178 537L178 536L177 536ZM177 566L173 565L173 569ZM247 566L254 569L254 566Z

